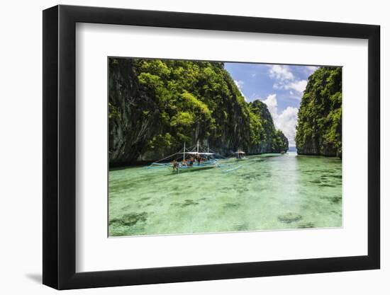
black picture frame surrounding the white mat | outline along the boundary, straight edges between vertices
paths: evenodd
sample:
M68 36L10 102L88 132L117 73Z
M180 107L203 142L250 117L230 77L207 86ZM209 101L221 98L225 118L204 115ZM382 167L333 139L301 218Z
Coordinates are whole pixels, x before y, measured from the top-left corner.
M76 23L368 40L368 253L363 256L76 272ZM380 27L120 8L43 11L43 284L55 289L372 270L380 267Z

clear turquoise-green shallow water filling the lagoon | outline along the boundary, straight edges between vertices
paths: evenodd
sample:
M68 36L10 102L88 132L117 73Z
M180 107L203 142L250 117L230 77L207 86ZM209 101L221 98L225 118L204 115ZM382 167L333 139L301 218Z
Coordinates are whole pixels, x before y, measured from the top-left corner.
M111 170L109 236L342 226L339 158L264 154L220 163L179 174Z

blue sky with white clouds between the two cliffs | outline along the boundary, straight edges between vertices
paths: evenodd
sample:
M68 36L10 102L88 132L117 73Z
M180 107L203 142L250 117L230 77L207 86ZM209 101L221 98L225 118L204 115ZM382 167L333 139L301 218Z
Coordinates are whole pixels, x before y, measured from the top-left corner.
M299 103L308 76L317 67L225 62L225 69L247 102L260 99L267 104L275 127L281 129L289 139L289 146L295 146Z

